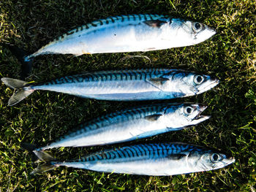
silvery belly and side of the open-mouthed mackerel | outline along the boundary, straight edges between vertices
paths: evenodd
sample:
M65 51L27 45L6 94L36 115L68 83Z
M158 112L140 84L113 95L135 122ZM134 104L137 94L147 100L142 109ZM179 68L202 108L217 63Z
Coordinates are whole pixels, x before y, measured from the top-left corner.
M120 120L117 120L120 121ZM144 118L124 120L123 122L108 123L108 126L85 131L77 135L66 137L48 147L81 147L92 145L108 145L116 142L127 142L154 134L165 132L166 126L161 121L151 122Z

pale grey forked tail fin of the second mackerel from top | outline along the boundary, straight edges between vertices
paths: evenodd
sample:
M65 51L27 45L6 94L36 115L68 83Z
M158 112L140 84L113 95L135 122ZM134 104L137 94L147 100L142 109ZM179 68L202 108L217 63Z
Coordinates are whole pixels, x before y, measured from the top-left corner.
M18 102L25 99L27 96L34 92L34 89L25 87L25 85L28 83L26 81L15 80L7 77L1 78L1 81L4 82L4 84L8 87L17 89L17 91L15 91L12 97L9 99L8 106L18 104Z

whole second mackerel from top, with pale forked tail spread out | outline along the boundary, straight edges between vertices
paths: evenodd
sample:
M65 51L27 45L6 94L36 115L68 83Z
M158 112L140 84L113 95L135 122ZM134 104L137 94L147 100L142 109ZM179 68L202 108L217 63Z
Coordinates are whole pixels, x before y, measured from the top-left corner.
M90 99L141 101L194 96L219 83L216 77L179 69L138 69L86 72L42 83L1 78L16 91L8 101L17 104L36 90L68 93Z

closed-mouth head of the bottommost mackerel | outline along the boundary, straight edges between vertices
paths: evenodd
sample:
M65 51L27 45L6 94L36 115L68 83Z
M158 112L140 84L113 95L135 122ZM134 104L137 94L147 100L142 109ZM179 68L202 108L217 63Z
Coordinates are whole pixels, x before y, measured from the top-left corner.
M197 172L203 172L233 164L236 159L217 150L192 150L189 152L188 161Z

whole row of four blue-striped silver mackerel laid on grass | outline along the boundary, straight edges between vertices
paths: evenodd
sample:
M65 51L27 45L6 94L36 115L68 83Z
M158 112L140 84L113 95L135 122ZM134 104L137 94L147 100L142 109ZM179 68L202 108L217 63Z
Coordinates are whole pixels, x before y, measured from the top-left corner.
M80 26L27 55L10 46L23 64L24 73L38 55L120 53L162 50L195 45L216 32L203 23L164 15L121 15ZM24 67L25 66L25 67ZM89 99L142 101L194 96L219 83L216 77L179 69L138 69L86 72L41 83L1 78L15 88L10 106L37 90L56 91ZM146 175L173 175L219 169L234 158L206 147L184 143L132 145L86 155L72 161L58 161L45 150L54 147L85 147L128 142L167 131L178 131L207 120L200 115L203 104L151 104L121 110L82 123L75 131L44 147L33 148L46 164L32 172L44 172L58 166Z

